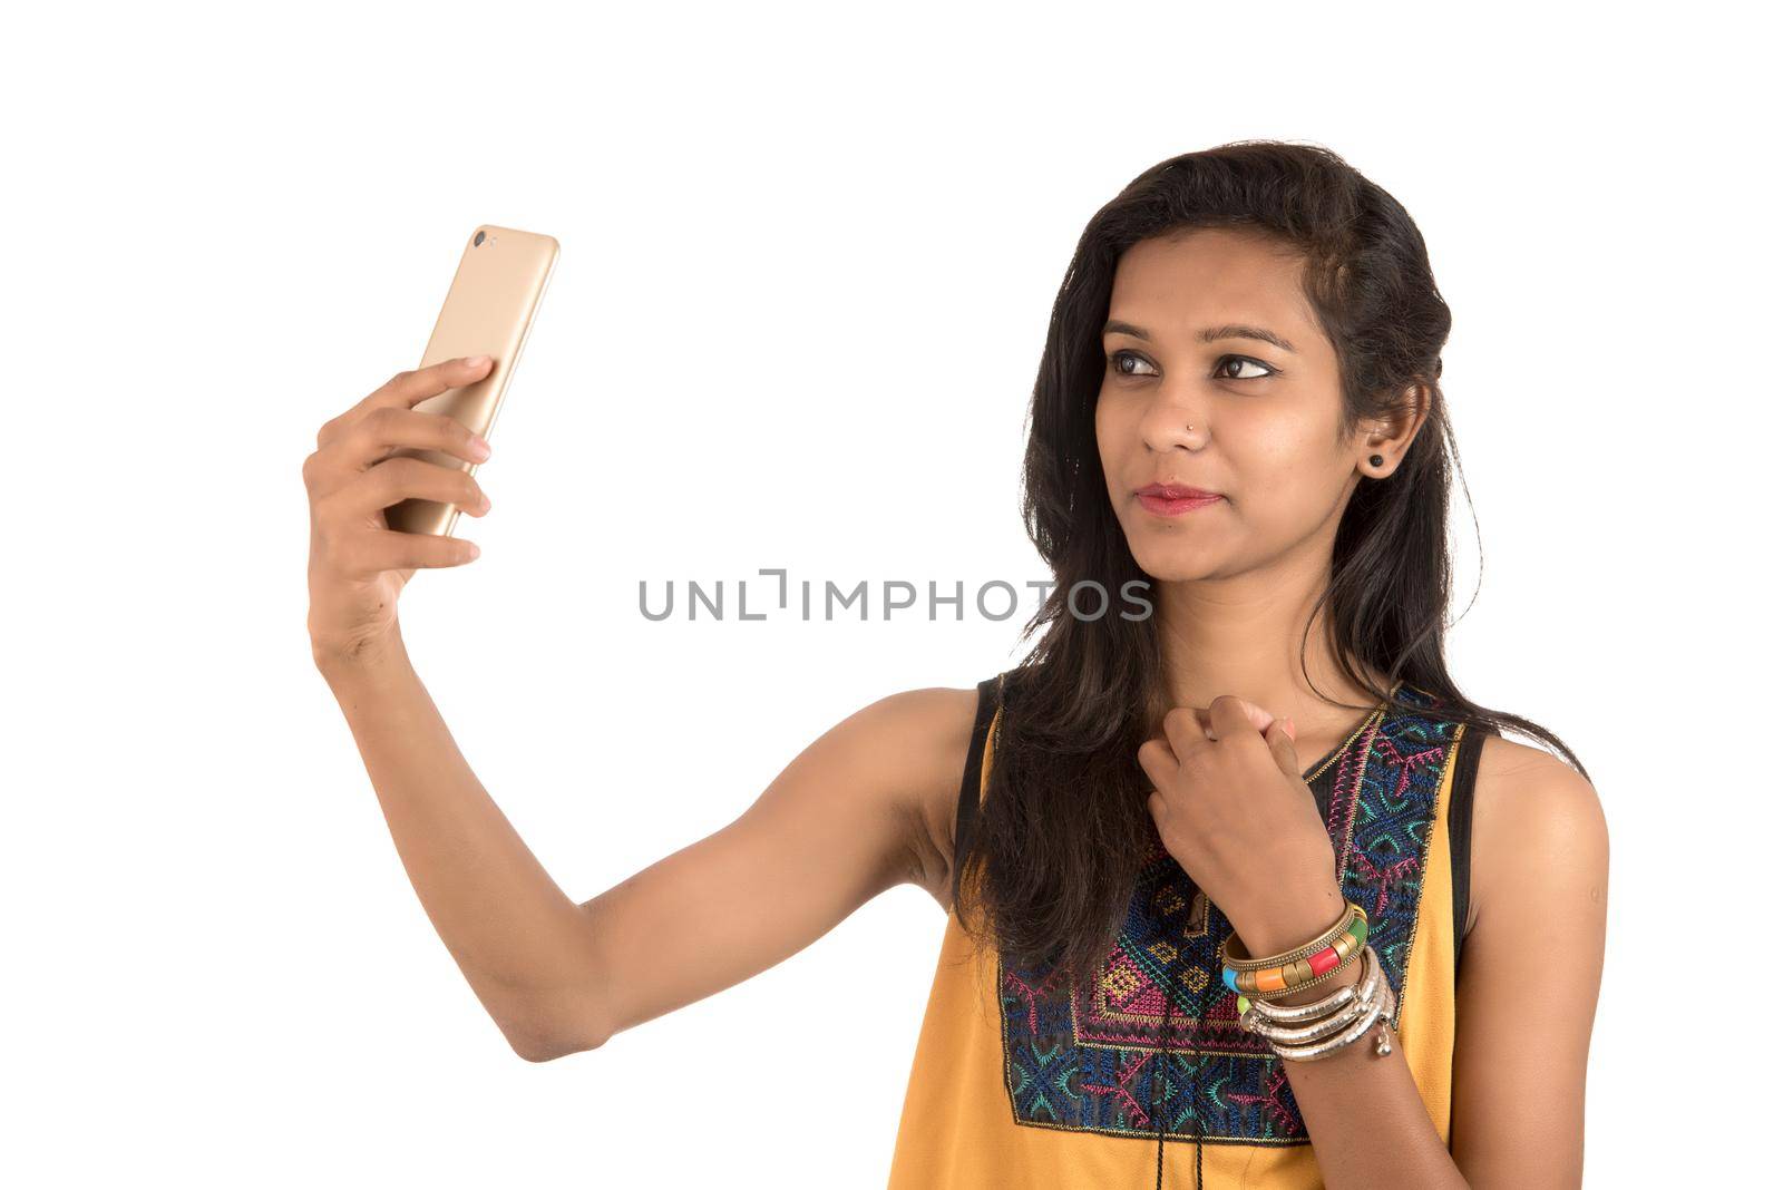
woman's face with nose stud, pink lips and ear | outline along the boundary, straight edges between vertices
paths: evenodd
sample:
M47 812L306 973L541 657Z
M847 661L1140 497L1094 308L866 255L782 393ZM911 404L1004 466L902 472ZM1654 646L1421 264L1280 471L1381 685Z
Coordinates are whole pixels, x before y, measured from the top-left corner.
M1368 426L1339 440L1337 355L1300 260L1257 233L1198 228L1129 248L1102 346L1097 451L1154 579L1227 577L1307 549L1335 533L1360 460L1398 458ZM1145 499L1154 483L1218 499Z

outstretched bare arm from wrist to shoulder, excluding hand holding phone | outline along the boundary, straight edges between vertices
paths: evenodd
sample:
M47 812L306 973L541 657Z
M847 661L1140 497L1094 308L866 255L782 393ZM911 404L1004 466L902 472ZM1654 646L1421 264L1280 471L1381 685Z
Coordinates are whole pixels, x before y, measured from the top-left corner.
M927 807L959 786L972 689L856 711L735 821L576 905L478 782L407 654L323 672L435 932L530 1062L740 983L893 885L945 889Z

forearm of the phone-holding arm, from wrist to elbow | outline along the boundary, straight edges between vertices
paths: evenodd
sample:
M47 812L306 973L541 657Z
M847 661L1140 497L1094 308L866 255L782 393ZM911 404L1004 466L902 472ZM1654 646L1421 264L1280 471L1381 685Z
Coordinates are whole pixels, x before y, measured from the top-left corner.
M407 650L317 656L396 852L471 989L517 1053L544 1058L596 1014L588 923L458 752Z

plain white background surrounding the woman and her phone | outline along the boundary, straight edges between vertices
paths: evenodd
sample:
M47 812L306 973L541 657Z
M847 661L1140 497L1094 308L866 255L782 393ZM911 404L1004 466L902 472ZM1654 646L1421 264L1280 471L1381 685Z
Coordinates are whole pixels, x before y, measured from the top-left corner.
M631 7L7 18L0 1179L883 1186L936 903L517 1058L312 668L300 465L419 362L471 228L562 240L483 558L403 624L587 900L847 713L1015 663L1016 622L649 624L637 584L1045 577L1022 419L1077 235L1241 137L1387 187L1455 312L1451 664L1583 755L1612 828L1587 1183L1772 1140L1774 1014L1715 1014L1735 976L1767 1003L1776 944L1749 9Z

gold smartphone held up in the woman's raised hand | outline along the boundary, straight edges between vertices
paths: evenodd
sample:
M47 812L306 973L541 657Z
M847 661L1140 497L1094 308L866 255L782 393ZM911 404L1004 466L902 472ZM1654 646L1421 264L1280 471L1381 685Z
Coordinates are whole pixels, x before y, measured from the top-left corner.
M431 367L467 355L490 356L489 374L474 385L448 388L415 408L446 413L489 438L496 412L521 362L521 349L533 328L533 314L551 281L558 242L549 235L483 224L465 240L458 273L446 290L446 305L433 324L421 367ZM405 447L394 454L423 458L442 467L476 474L476 463L444 451ZM458 524L458 506L439 501L407 499L383 509L385 522L403 533L451 536Z

